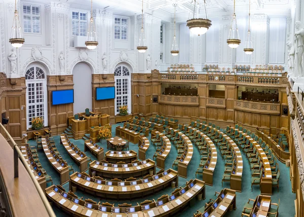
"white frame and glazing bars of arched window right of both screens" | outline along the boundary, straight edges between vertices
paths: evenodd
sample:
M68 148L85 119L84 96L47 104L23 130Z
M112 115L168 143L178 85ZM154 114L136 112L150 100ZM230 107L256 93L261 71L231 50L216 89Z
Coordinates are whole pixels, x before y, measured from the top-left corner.
M132 112L132 103L131 103L131 97L132 97L132 93L131 93L131 70L127 65L124 64L120 64L117 65L115 67L115 70L121 67L121 72L123 70L123 67L126 67L129 70L129 76L115 76L115 115L119 115L119 110L117 108L118 106L118 97L119 96L128 96L128 101L127 103L122 103L122 105L128 105L128 114L131 114ZM118 80L119 79L128 79L128 93L127 94L118 94Z

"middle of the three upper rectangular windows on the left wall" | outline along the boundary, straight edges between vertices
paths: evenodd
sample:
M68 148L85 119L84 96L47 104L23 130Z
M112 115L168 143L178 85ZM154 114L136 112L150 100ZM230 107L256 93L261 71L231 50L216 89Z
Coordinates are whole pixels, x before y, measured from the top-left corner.
M72 34L87 36L87 13L72 12Z

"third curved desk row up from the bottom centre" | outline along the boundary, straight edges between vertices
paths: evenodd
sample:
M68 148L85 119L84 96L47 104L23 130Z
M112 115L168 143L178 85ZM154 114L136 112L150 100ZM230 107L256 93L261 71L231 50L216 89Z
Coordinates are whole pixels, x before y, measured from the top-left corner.
M93 161L90 163L89 174L95 176L92 173L108 178L139 177L146 174L155 174L155 162L150 159L129 164L110 164Z

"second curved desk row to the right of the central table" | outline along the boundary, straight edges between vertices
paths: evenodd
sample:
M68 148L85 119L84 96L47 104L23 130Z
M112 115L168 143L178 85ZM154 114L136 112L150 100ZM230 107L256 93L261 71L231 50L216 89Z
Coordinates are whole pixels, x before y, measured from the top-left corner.
M151 142L157 148L154 154L154 157L156 157L156 166L165 169L165 161L171 151L171 142L167 136L157 130L154 130L153 134L155 134L155 136L151 134Z

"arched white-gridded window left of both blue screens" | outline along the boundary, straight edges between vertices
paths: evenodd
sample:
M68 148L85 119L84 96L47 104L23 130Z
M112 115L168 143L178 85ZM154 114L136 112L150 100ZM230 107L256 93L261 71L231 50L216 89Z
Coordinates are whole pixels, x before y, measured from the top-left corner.
M47 100L47 79L40 66L31 66L25 73L27 118L26 125L29 129L32 118L42 117L44 126L48 126L48 100Z

